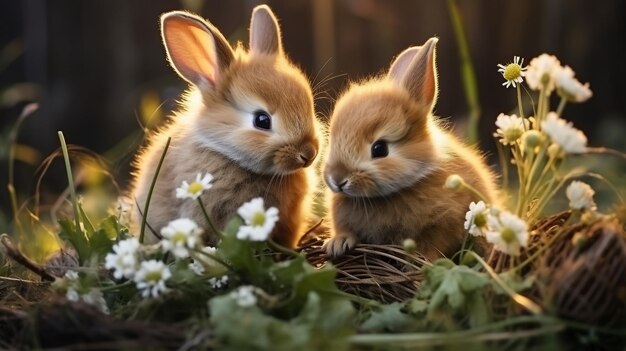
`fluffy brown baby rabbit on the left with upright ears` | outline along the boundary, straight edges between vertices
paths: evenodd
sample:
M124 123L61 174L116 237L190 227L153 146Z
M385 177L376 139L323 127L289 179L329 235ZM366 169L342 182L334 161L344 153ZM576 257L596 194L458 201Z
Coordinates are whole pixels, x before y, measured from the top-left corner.
M213 187L201 198L216 227L260 196L280 213L273 239L294 247L310 209L314 172L305 168L318 152L318 122L309 82L283 52L274 14L265 5L254 9L249 50L233 49L211 23L186 12L161 16L161 33L170 64L191 88L135 160L135 225L171 137L147 214L151 228L158 232L179 217L208 228L197 201L175 198L182 181L208 172ZM217 242L215 233L206 235L208 244Z

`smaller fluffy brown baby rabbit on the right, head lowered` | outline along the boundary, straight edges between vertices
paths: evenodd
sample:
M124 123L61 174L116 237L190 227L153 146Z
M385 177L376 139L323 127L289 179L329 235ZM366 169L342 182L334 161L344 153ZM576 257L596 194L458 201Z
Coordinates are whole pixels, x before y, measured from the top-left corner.
M469 191L444 189L446 178L459 174L494 198L482 157L431 113L436 43L431 38L405 50L385 76L352 84L337 100L324 168L334 192L333 237L325 245L331 257L358 242L401 244L407 238L428 259L450 256L461 248L465 213L478 199Z

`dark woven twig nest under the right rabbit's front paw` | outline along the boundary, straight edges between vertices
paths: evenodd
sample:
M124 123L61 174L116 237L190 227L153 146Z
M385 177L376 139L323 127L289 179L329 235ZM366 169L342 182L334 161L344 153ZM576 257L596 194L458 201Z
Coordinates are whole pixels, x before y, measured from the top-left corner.
M328 235L309 235L300 251L315 267L323 267L329 257L322 249ZM404 301L417 292L425 259L407 253L397 245L358 244L342 257L330 261L337 269L339 289L384 303Z

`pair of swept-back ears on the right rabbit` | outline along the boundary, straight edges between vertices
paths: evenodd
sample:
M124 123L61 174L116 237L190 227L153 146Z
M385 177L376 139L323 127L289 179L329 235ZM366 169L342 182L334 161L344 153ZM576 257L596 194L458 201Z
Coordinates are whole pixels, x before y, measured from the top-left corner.
M413 54L407 64L411 50L405 50L391 66L388 77L406 88L413 98L432 107L437 98L437 67L435 47L437 38L430 38Z

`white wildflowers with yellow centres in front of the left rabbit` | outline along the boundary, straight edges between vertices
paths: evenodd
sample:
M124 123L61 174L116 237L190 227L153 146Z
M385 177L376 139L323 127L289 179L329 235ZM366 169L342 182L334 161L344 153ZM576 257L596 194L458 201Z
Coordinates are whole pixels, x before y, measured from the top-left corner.
M212 181L211 174L198 173L195 181L182 182L176 189L176 197L198 200L203 206L200 196L211 189ZM244 224L239 226L236 238L244 241L267 240L278 221L278 210L274 207L266 210L262 198L244 203L238 214ZM189 276L188 273L214 290L228 285L228 265L216 247L202 245L204 230L198 223L190 218L178 218L160 228L159 232L162 240L153 245L142 244L136 237L121 237L105 255L104 267L110 270L115 280L132 283L143 298L158 298L168 293L176 288L176 281ZM83 301L108 311L101 290L83 287L76 272L68 271L63 279L58 280L57 286L68 300ZM256 301L253 294L256 288L250 289L242 287L232 296L241 301L240 305L250 306Z

